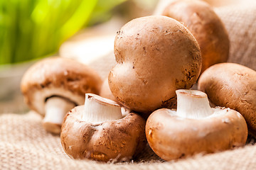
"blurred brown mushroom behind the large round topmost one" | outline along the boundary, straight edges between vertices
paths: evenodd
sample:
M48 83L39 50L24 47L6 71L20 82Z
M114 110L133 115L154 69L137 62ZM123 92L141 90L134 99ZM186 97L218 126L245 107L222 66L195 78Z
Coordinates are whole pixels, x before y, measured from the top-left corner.
M161 15L180 21L195 36L202 53L201 73L213 64L228 61L230 41L227 30L206 2L172 1Z

